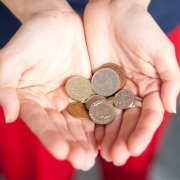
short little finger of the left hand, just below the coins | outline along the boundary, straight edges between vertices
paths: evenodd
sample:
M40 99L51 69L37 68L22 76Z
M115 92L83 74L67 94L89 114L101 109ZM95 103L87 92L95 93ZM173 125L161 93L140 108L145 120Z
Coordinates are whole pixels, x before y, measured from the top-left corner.
M97 147L97 142L95 138L95 124L91 120L86 119L85 121L82 121L82 125L86 133L86 138L88 142L90 143L92 152L94 153L94 156L96 157L98 154L98 147Z

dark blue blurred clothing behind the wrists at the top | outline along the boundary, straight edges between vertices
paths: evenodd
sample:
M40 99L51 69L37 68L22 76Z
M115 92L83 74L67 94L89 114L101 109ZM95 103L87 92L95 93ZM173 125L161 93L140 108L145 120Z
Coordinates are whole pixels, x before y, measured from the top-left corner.
M71 6L83 14L87 0L68 0ZM180 22L180 0L152 0L149 12L165 33ZM0 2L0 48L13 36L21 23Z

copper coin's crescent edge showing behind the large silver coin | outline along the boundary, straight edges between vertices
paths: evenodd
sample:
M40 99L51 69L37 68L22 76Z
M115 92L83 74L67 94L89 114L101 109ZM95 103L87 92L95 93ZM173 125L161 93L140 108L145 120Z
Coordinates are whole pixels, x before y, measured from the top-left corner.
M114 71L116 71L117 74L119 75L119 79L120 79L119 89L122 89L124 87L124 85L126 84L126 76L125 76L125 72L122 67L120 67L114 63L106 63L106 64L102 65L101 67L102 68L110 68L110 69L113 69Z

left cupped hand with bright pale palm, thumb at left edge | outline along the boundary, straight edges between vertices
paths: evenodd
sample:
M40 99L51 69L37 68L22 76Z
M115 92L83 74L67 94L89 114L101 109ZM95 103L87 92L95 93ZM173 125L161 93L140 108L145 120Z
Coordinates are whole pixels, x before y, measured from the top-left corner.
M52 155L88 170L97 155L94 124L71 117L65 91L91 67L80 17L72 9L39 12L0 51L0 104L6 122L19 115Z

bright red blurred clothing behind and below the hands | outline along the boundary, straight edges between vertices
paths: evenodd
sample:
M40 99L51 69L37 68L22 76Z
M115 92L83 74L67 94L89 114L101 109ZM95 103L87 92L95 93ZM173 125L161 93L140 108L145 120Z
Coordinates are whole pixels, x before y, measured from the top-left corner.
M180 59L180 27L169 37ZM115 167L112 163L101 160L104 179L145 180L169 117L169 114L165 115L151 144L140 157L130 158L122 167ZM2 109L0 109L0 170L6 180L69 180L74 173L70 163L54 159L20 119L13 124L5 124Z

